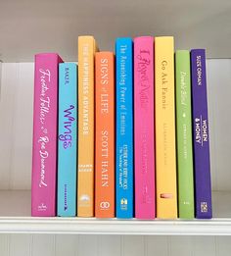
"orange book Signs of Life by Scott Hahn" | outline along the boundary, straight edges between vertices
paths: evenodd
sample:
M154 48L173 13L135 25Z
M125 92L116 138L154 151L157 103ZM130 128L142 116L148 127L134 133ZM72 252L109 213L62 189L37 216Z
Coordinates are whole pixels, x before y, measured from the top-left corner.
M114 53L95 55L95 216L115 217Z

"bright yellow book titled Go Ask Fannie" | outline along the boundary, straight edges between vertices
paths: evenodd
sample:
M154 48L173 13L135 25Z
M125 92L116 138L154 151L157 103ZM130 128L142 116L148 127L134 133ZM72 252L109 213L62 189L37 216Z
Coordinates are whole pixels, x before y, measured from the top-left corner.
M174 41L155 38L157 218L177 218Z

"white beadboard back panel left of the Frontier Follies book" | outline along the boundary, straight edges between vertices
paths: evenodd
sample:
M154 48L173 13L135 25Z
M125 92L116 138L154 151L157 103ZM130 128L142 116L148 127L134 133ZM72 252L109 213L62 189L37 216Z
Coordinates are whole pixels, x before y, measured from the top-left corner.
M0 188L30 189L33 64L2 64Z

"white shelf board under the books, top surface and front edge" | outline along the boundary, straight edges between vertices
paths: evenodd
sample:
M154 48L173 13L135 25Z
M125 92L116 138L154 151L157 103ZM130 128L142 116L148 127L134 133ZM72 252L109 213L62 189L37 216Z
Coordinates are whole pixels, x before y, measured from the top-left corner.
M230 192L213 192L212 220L138 221L96 218L32 218L30 191L0 191L0 233L231 235Z

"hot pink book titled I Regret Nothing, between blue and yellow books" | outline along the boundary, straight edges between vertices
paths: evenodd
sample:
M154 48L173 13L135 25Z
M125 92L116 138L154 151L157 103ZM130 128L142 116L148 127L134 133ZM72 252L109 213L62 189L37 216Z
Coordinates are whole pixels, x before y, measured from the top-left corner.
M134 39L135 217L156 216L154 37Z

